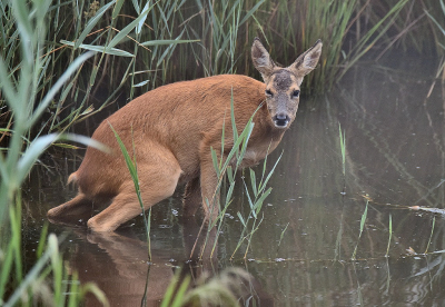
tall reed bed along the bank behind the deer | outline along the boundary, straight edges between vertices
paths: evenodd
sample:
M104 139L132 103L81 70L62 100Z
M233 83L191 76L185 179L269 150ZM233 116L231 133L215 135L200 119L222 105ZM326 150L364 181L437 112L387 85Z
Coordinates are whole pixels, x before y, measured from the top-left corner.
M324 42L320 67L306 77L306 93L332 89L344 73L367 56L385 60L392 52L439 58L445 36L445 9L438 0L162 0L51 1L39 80L39 99L87 49L100 50L149 10L139 31L131 31L115 49L98 52L59 91L39 128L62 131L116 99L131 100L152 88L180 80L220 73L260 79L251 66L250 46L261 38L283 66ZM20 70L20 37L8 4L0 3L0 50L11 79ZM429 17L428 17L429 14ZM164 42L159 42L162 40ZM171 40L194 41L169 43ZM99 49L98 49L99 48ZM102 48L103 49L103 48ZM12 121L0 99L1 127ZM0 137L2 139L6 136Z

